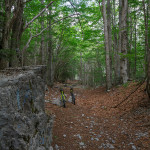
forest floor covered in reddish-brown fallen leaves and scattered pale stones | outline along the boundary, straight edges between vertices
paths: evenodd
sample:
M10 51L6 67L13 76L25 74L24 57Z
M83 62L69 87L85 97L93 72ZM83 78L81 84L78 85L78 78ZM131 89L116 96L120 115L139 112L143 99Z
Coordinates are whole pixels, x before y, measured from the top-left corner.
M51 104L60 98L63 87L67 99L74 86L76 105L66 108ZM45 109L55 116L54 150L150 150L150 102L143 84L124 103L113 108L138 87L138 83L115 87L84 89L77 83L59 84L49 88Z

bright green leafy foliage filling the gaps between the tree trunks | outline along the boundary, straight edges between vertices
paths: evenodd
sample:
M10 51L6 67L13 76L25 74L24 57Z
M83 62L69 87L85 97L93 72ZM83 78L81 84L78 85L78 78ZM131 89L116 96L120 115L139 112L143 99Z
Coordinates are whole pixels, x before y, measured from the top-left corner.
M147 4L147 1L145 1ZM30 1L26 3L23 13L24 23L29 22L36 16L47 4L49 0ZM129 0L129 14L128 14L128 53L126 55L120 53L121 58L127 58L130 62L131 76L140 78L144 76L143 66L145 65L145 24L144 14L141 9L142 1ZM117 2L116 2L117 4ZM73 5L73 6L72 6ZM114 7L112 5L112 7ZM112 8L112 17L116 16L116 21L112 24L112 47L111 54L113 66L114 79L114 64L115 52L114 49L114 34L117 35L117 42L119 40L119 6L118 4ZM49 12L51 10L51 13ZM67 17L71 14L79 13L78 16ZM115 14L114 14L115 13ZM65 19L62 19L67 17ZM61 19L61 20L60 20ZM99 9L97 1L90 0L67 0L54 1L40 17L38 17L28 29L23 32L20 48L26 45L29 37L40 33L42 30L41 23L44 28L49 26L49 22L53 24L51 28L45 30L38 37L33 38L30 42L29 48L25 52L25 56L29 64L33 64L34 60L39 63L41 38L44 37L44 51L45 63L47 63L49 53L47 47L51 42L52 60L55 64L55 80L65 81L66 79L73 79L75 76L81 78L82 74L87 81L90 81L91 86L100 85L105 82L105 47L104 47L104 29L102 13ZM113 20L113 19L112 19ZM136 23L136 50L135 50L135 23ZM132 38L130 37L132 33ZM117 45L118 46L118 45ZM118 47L117 47L118 48ZM136 54L135 54L136 53ZM15 51L0 50L0 58L9 58L15 55ZM133 73L136 60L136 74ZM30 63L31 62L31 63ZM81 66L82 62L82 66ZM123 85L128 86L128 83Z

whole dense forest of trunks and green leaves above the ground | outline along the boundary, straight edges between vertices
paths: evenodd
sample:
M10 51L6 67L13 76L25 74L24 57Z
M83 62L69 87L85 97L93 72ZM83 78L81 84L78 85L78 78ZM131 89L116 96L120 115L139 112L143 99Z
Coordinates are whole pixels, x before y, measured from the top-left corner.
M147 82L150 0L0 0L0 69L47 65L47 83Z

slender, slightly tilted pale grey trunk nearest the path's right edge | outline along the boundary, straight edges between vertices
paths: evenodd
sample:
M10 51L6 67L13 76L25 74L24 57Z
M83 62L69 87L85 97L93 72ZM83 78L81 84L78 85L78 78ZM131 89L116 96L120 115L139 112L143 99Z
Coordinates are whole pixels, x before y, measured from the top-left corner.
M110 52L109 52L109 36L107 28L107 17L106 17L106 6L105 0L102 1L103 6L103 22L104 22L104 38L105 38L105 50L106 50L106 88L110 90L111 88L111 78L110 78Z

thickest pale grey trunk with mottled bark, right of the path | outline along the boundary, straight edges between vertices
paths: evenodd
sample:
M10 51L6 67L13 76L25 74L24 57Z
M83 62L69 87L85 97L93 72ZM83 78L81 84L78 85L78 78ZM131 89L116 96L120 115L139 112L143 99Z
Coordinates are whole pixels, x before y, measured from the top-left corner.
M128 14L128 0L120 0L120 48L121 48L121 80L122 83L126 83L128 81L128 73L127 73L127 45L128 45L128 36L127 36L127 14Z

